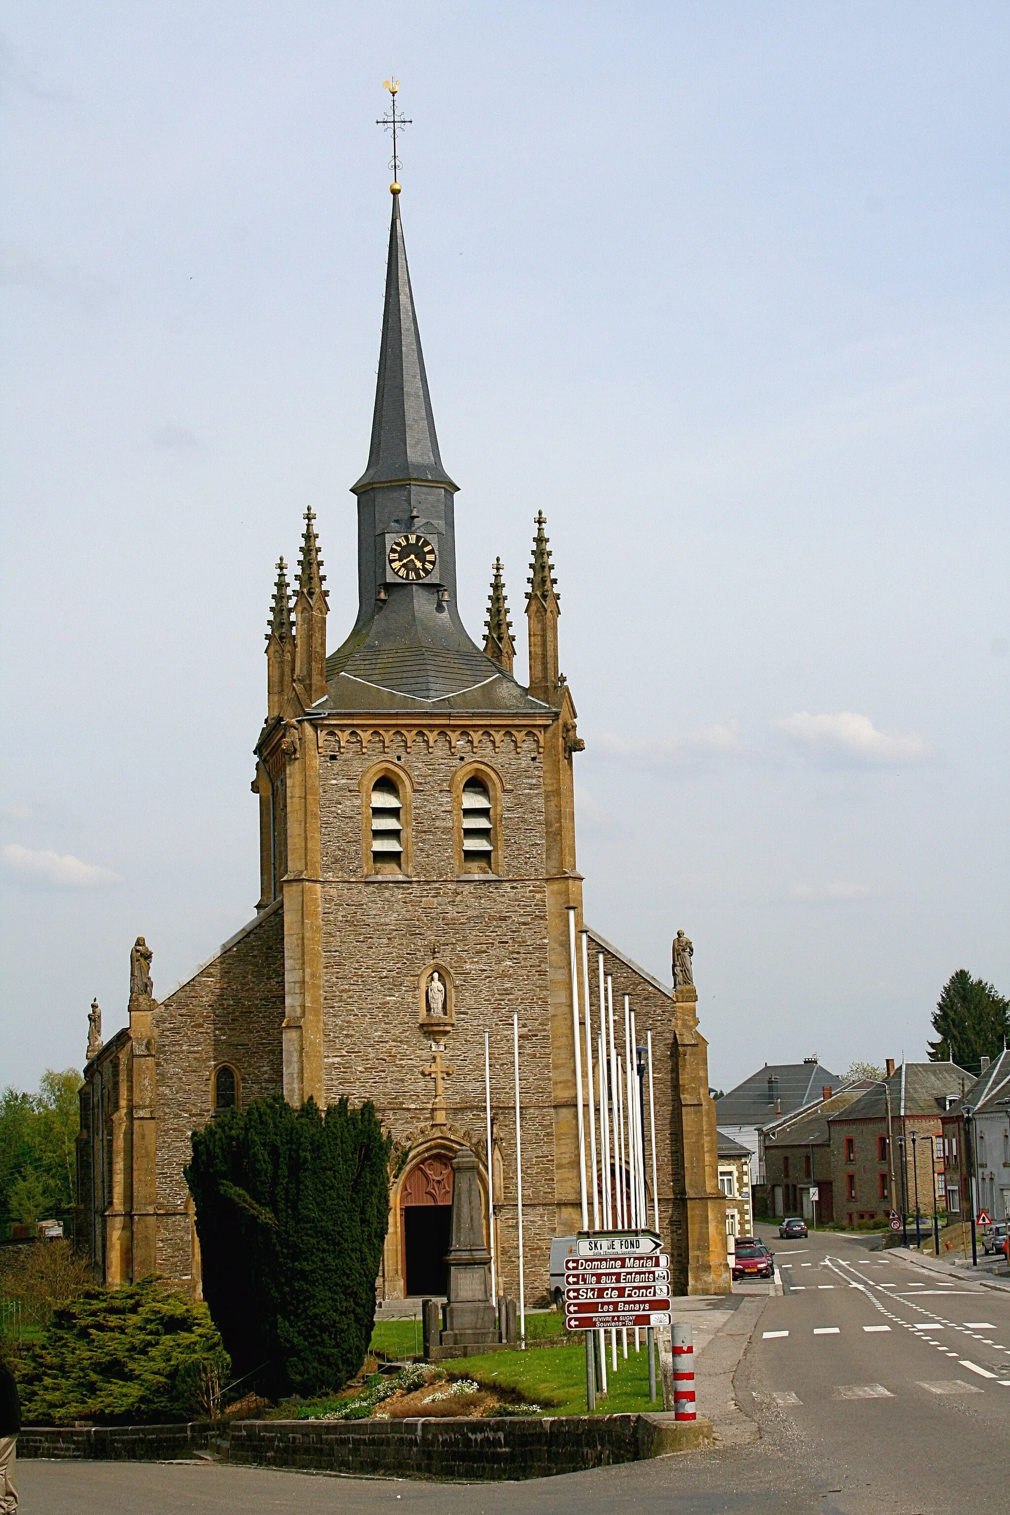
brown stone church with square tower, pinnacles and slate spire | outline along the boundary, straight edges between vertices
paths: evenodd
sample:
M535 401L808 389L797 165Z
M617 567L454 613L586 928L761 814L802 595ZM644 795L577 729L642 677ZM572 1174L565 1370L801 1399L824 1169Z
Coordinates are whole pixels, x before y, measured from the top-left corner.
M351 492L359 603L335 651L312 511L297 576L277 564L254 747L254 920L161 1001L138 938L129 1026L103 1044L92 1007L79 1239L109 1285L156 1273L200 1295L189 1133L268 1095L321 1106L347 1095L373 1100L394 1142L379 1298L444 1291L451 1164L463 1148L479 1160L500 1292L518 1294L518 1012L525 1298L547 1303L551 1238L581 1224L574 912L588 932L594 1042L600 954L615 1006L628 995L639 1041L651 1032L656 1189L675 1291L725 1292L725 1200L692 974L666 988L583 926L572 764L584 744L559 667L542 511L527 683L513 668L500 562L483 645L460 620L457 485L439 453L397 183L371 447ZM584 1026L581 991L578 1015ZM651 1212L651 1174L648 1186Z

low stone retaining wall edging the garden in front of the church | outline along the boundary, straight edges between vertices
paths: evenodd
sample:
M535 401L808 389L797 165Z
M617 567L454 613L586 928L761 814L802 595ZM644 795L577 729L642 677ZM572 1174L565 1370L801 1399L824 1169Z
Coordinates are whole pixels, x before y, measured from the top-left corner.
M542 1479L686 1451L712 1441L707 1421L671 1415L439 1417L401 1421L233 1421L227 1429L27 1426L20 1457L162 1462L210 1451L227 1462L350 1477Z

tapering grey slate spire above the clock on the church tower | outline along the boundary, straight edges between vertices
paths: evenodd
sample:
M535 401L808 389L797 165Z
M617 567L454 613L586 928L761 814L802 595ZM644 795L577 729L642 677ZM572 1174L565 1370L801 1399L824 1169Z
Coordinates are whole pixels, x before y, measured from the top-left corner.
M442 467L435 435L400 221L400 195L394 192L371 448L368 467L351 488L354 494L360 494L376 485L407 482L432 483L453 491L457 488Z

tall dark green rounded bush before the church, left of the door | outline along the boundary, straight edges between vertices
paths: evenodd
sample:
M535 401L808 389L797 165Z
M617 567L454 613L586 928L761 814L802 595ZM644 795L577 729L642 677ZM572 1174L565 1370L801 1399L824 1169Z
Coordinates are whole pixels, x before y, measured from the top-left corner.
M192 1135L203 1294L238 1376L267 1392L339 1389L360 1371L389 1220L389 1138L371 1103L323 1115L254 1100Z

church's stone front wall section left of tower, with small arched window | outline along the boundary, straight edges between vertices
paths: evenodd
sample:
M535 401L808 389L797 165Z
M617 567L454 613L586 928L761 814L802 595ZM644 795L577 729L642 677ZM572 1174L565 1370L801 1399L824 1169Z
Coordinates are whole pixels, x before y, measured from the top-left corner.
M189 1133L210 1120L212 1073L227 1062L242 1103L282 1092L283 911L271 906L157 1006L157 1271L192 1277L182 1170Z

